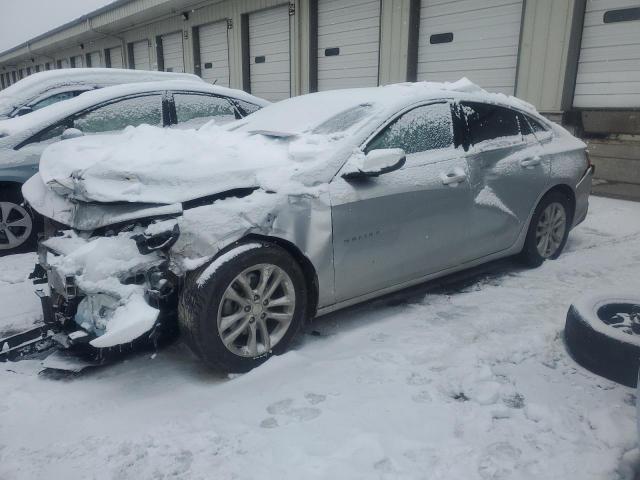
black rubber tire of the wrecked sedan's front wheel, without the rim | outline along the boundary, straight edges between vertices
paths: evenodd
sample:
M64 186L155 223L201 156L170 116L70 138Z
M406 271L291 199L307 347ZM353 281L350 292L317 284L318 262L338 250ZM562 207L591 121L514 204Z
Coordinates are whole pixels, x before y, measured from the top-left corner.
M229 284L238 274L247 268L260 263L270 263L282 268L291 278L296 294L296 306L293 319L284 337L271 351L258 357L241 357L230 350L222 342L218 332L218 307ZM284 353L293 338L302 328L307 317L308 292L302 269L296 261L279 247L264 244L262 247L244 252L232 260L221 265L202 286L194 284L193 288L205 291L205 303L199 312L196 326L198 343L197 350L202 359L208 364L223 365L231 372L245 372L265 362L272 355Z

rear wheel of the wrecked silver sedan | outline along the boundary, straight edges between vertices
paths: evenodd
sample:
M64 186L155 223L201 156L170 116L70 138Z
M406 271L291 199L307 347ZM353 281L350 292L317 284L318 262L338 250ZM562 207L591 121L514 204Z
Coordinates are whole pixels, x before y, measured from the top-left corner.
M551 218L547 218L549 216ZM549 229L549 235L545 235L547 222L555 222L550 227L556 227ZM567 243L572 222L569 199L557 191L547 193L533 212L520 260L530 267L539 267L547 259L558 258ZM547 244L544 243L545 238Z

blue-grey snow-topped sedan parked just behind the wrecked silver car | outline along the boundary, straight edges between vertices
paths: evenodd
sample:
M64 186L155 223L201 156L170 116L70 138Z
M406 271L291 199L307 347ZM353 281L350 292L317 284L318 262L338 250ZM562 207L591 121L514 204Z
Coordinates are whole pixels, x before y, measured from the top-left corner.
M194 128L211 119L229 122L267 104L240 90L172 80L106 87L0 122L0 255L35 245L39 228L21 206L20 187L38 171L48 145L130 125Z

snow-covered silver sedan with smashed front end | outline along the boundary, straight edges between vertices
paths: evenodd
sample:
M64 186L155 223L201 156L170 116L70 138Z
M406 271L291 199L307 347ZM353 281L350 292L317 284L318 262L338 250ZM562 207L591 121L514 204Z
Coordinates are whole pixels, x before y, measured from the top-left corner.
M49 147L45 317L97 349L177 321L249 370L306 320L492 259L554 259L587 214L585 144L468 80L304 95L199 131ZM46 280L45 280L46 277Z

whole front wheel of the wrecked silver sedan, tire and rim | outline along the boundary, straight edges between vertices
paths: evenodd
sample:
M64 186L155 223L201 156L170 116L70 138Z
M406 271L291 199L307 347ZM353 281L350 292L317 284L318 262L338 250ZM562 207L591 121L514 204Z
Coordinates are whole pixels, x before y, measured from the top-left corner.
M285 352L307 315L302 269L266 242L236 245L190 272L178 305L187 345L210 367L230 373Z

